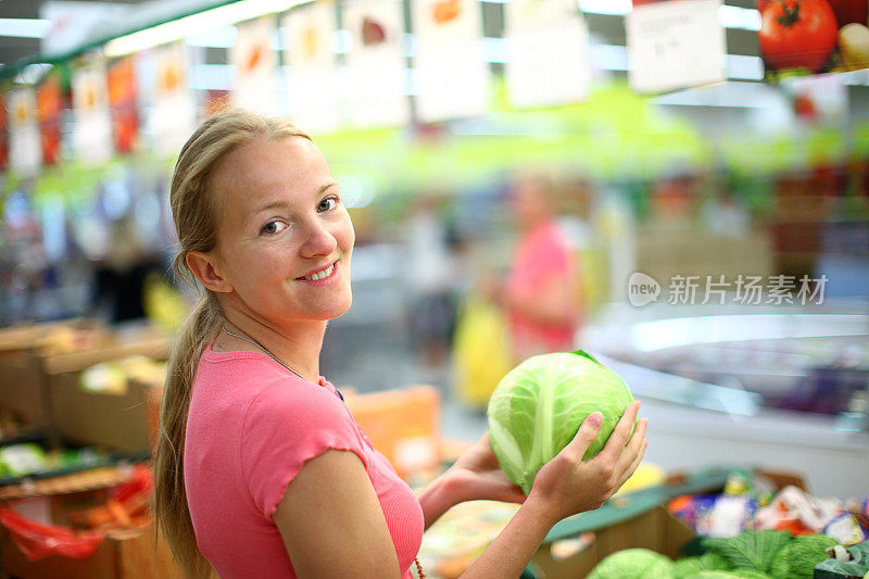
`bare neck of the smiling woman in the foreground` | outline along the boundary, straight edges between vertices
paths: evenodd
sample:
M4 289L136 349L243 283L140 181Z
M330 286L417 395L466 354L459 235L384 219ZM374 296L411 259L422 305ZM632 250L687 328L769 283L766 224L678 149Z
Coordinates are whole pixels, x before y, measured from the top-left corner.
M263 349L292 368L306 380L319 380L319 352L326 333L326 322L297 320L287 327L265 322L239 310L224 310L227 330L259 342ZM249 351L264 353L255 344L226 331L215 340L215 351Z

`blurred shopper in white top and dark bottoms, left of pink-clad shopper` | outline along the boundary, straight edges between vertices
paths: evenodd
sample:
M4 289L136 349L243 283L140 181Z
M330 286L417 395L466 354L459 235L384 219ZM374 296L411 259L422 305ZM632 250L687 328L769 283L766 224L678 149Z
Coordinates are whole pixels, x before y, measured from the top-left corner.
M411 331L421 362L441 367L455 327L454 259L439 213L440 200L423 193L405 223L407 259L402 268L411 290Z

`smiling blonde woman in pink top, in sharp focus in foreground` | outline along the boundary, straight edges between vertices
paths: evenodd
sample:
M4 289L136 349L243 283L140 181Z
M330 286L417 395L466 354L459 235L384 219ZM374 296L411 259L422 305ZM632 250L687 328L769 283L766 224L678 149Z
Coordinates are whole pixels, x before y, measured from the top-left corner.
M189 576L411 577L423 530L474 499L524 503L466 577L517 577L561 518L596 508L639 464L626 412L581 457L600 413L540 470L528 498L487 437L414 496L318 374L326 324L351 303L353 226L311 140L227 111L181 150L171 202L176 268L204 288L169 362L156 515Z

